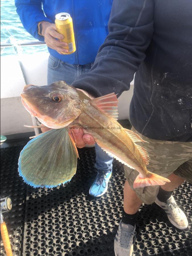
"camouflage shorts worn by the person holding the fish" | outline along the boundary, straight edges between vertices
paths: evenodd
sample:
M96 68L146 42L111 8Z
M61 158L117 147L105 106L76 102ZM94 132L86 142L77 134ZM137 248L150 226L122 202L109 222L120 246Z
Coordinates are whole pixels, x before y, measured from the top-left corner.
M163 177L168 177L174 172L174 174L192 183L192 142L156 141L141 135L133 127L131 130L139 134L144 141L149 142L137 144L143 146L150 156L150 162L147 166L150 172ZM124 170L125 177L133 189L133 182L138 172L127 166L124 166ZM159 186L147 186L133 190L143 203L151 204L156 199Z

